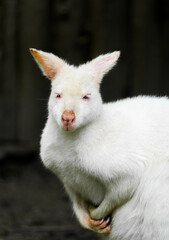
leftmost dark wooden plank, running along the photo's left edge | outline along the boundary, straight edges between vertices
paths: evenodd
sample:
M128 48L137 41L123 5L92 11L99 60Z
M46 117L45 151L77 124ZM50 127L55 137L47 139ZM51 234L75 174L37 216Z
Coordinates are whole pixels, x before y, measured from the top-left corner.
M16 1L1 1L1 90L0 90L0 139L16 137L17 88L16 88ZM4 18L5 17L5 18Z

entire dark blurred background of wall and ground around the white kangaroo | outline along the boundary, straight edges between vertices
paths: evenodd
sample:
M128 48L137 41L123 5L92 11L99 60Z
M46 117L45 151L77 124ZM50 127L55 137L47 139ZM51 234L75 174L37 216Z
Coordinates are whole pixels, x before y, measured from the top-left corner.
M95 239L41 165L50 81L29 48L74 65L121 50L101 86L107 102L168 96L168 44L167 0L0 0L0 239Z

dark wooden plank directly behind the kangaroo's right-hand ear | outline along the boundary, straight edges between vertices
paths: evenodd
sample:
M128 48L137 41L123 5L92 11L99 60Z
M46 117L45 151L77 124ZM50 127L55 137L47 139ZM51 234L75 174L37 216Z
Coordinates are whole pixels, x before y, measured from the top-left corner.
M127 63L129 62L127 5L128 1L94 0L91 4L91 57L121 50L119 66L105 77L102 93L105 101L125 97ZM123 5L123 7L122 7Z

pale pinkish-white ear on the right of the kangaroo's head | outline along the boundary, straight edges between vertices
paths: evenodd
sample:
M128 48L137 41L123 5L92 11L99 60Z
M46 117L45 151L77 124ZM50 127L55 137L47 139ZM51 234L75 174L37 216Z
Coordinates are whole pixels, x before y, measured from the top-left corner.
M100 83L103 76L116 65L119 56L120 51L115 51L113 53L100 55L88 63L89 71L98 83Z

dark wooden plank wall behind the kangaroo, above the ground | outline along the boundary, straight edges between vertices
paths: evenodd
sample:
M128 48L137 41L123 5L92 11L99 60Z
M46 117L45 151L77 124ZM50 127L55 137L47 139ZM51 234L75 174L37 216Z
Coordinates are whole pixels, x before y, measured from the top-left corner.
M105 77L105 101L138 94L169 95L167 0L1 0L0 143L39 141L50 82L29 47L72 64L121 50Z

